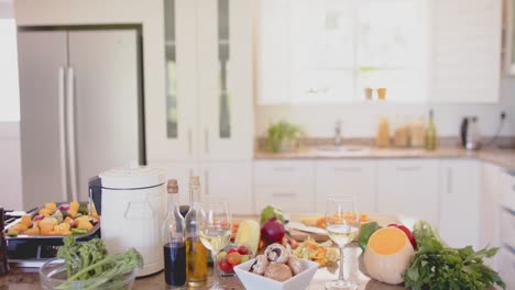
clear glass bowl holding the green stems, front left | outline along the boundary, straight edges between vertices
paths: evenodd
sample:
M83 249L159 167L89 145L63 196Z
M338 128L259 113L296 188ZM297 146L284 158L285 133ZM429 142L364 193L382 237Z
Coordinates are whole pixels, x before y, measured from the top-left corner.
M67 281L66 264L64 259L53 258L40 268L40 285L42 289L100 289L121 290L131 289L138 268L120 274L106 280L105 278L91 278L87 280Z

